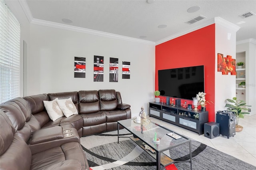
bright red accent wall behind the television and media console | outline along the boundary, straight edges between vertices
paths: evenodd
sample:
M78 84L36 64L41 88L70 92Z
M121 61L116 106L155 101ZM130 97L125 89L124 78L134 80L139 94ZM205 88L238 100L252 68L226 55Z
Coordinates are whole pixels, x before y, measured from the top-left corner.
M215 101L215 24L156 45L156 84L158 70L204 65L204 89L206 101ZM162 97L163 98L163 97ZM175 100L174 100L175 101ZM191 100L182 99L181 103ZM200 109L200 107L198 107ZM208 121L215 122L214 104L206 105Z

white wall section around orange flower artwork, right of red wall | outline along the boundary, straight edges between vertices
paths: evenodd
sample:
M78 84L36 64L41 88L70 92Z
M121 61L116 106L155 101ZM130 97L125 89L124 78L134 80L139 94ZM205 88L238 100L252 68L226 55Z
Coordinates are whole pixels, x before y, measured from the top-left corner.
M215 111L225 110L226 99L236 97L236 76L222 75L217 70L217 54L222 53L223 57L231 55L236 59L236 28L233 25L221 20L221 24L215 24ZM230 26L230 27L229 27ZM231 29L233 28L233 29Z

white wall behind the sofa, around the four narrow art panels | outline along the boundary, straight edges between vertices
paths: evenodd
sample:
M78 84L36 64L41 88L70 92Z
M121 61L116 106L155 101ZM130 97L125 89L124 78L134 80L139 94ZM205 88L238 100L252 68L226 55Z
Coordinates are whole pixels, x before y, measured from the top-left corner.
M132 117L154 101L155 46L59 28L30 25L27 94L116 89ZM104 82L93 81L94 55L104 56ZM74 78L74 57L86 57L86 78ZM119 59L118 83L109 82L109 58ZM122 79L122 61L130 61L130 79Z

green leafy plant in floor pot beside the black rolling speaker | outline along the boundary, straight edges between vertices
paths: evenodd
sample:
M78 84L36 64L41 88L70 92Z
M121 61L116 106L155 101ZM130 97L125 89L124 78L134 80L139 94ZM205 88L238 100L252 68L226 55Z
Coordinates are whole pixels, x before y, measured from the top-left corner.
M244 107L251 106L246 105L244 101L237 99L236 97L233 97L233 99L227 99L227 101L232 104L226 103L225 107L228 107L227 109L234 112L236 115L236 132L241 132L243 130L243 127L241 125L238 125L239 118L244 118L244 114L250 114L248 112L242 112L242 110L248 111L249 109Z

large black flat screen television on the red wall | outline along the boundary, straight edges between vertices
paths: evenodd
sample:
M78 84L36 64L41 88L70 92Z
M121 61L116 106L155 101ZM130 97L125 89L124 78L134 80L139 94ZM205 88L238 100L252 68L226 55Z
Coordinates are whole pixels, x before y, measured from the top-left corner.
M161 96L192 100L204 92L204 65L158 70Z

